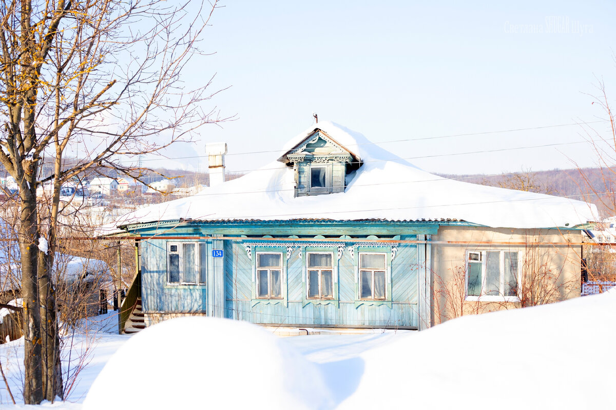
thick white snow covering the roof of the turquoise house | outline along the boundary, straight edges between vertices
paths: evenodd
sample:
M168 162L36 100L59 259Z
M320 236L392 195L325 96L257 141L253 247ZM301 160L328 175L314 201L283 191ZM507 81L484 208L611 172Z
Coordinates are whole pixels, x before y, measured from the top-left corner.
M118 226L197 219L335 219L418 221L461 219L491 227L575 226L596 220L585 202L442 178L420 170L365 136L332 122L319 122L286 144L282 156L320 128L359 156L362 167L347 176L345 192L293 197L293 169L273 161L259 170L171 202L123 216ZM349 178L351 177L352 178Z

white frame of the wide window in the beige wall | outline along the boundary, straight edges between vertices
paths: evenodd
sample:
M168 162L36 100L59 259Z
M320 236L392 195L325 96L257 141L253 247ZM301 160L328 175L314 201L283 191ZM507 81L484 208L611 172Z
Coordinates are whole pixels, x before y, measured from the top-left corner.
M486 288L486 277L487 277L487 252L498 252L499 253L499 261L498 261L498 291L500 294L492 295L485 294ZM517 283L517 292L516 296L505 296L505 253L517 253L517 272L516 272L516 283ZM470 261L471 254L479 254L479 262ZM465 301L481 301L481 302L519 302L519 286L520 286L520 258L522 252L519 250L505 250L505 249L487 249L487 250L477 250L477 251L467 251L466 252L466 265L465 265L465 277L464 277L464 300ZM469 282L469 265L470 264L481 264L481 293L479 296L469 295L468 294L468 282Z

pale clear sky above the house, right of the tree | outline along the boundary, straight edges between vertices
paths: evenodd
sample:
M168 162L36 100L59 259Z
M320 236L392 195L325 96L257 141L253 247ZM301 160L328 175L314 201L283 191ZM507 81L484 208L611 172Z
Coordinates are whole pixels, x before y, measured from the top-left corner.
M287 140L331 120L377 143L605 119L591 104L598 79L616 99L616 2L222 1L185 81L211 90L222 116L200 141L169 156L229 145L227 170L274 159ZM607 123L593 124L609 136ZM592 166L580 125L425 141L383 148L439 173ZM428 157L429 156L429 157ZM415 158L426 157L426 158ZM177 160L206 167L206 158ZM148 164L152 165L152 164Z

